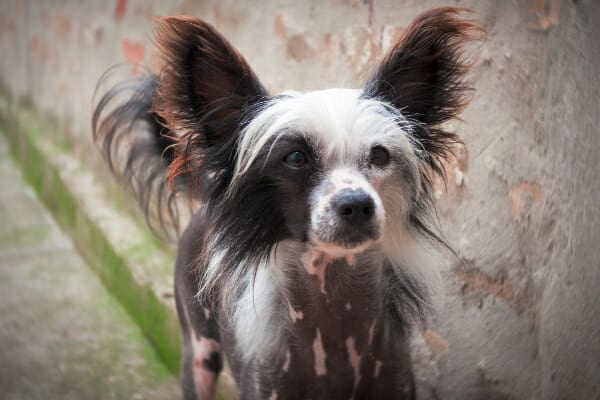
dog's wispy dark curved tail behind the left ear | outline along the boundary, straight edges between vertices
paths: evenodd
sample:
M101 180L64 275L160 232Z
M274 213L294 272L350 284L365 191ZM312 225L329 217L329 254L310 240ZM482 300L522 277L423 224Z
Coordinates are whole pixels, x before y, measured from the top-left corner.
M110 85L118 65L101 77L101 87ZM173 160L173 138L151 111L157 77L142 70L138 76L121 80L94 101L92 132L108 166L136 197L148 226L159 237L173 240L180 230L181 210L176 189L166 185L166 171Z

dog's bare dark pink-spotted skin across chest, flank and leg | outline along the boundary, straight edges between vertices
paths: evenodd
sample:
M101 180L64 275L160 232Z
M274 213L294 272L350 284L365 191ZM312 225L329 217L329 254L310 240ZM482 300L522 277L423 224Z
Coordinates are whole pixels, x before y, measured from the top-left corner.
M214 398L221 352L242 400L414 398L407 334L374 295L381 292L377 253L335 258L310 249L290 260L280 301L280 323L288 324L283 347L244 361L228 322L193 300L198 274L188 266L201 248L199 219L182 238L188 244L180 246L176 269L185 399Z

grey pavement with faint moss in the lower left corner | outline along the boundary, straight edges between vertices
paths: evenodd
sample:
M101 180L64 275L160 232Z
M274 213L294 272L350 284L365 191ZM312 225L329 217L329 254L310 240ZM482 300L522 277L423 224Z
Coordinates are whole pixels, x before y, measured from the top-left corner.
M0 135L2 398L179 397L176 377L25 185L8 154Z

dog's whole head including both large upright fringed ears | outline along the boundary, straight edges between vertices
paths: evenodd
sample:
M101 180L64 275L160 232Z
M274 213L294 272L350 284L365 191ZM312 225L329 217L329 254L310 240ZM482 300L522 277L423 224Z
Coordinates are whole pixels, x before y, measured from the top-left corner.
M458 140L441 124L467 103L463 45L480 29L463 11L419 16L362 89L278 96L210 25L161 20L154 110L177 141L171 178L209 183L216 245L241 260L288 239L333 256L411 229L437 239L432 177Z

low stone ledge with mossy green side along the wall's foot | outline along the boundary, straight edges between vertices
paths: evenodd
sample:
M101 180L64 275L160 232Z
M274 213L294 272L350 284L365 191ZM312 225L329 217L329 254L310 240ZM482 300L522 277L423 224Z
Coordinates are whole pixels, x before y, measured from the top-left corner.
M43 130L42 130L43 129ZM180 335L173 297L174 254L116 204L108 189L65 148L49 140L53 124L0 99L0 130L39 198L90 267L131 314L167 368L179 371ZM41 133L44 132L42 135ZM217 398L233 398L228 371Z

